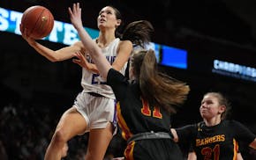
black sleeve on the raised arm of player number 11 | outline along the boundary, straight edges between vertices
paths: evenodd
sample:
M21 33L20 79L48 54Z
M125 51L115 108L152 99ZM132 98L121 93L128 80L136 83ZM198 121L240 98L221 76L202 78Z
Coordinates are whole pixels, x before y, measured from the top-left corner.
M107 84L111 86L117 100L125 98L125 93L129 82L128 79L120 72L115 69L109 69Z

